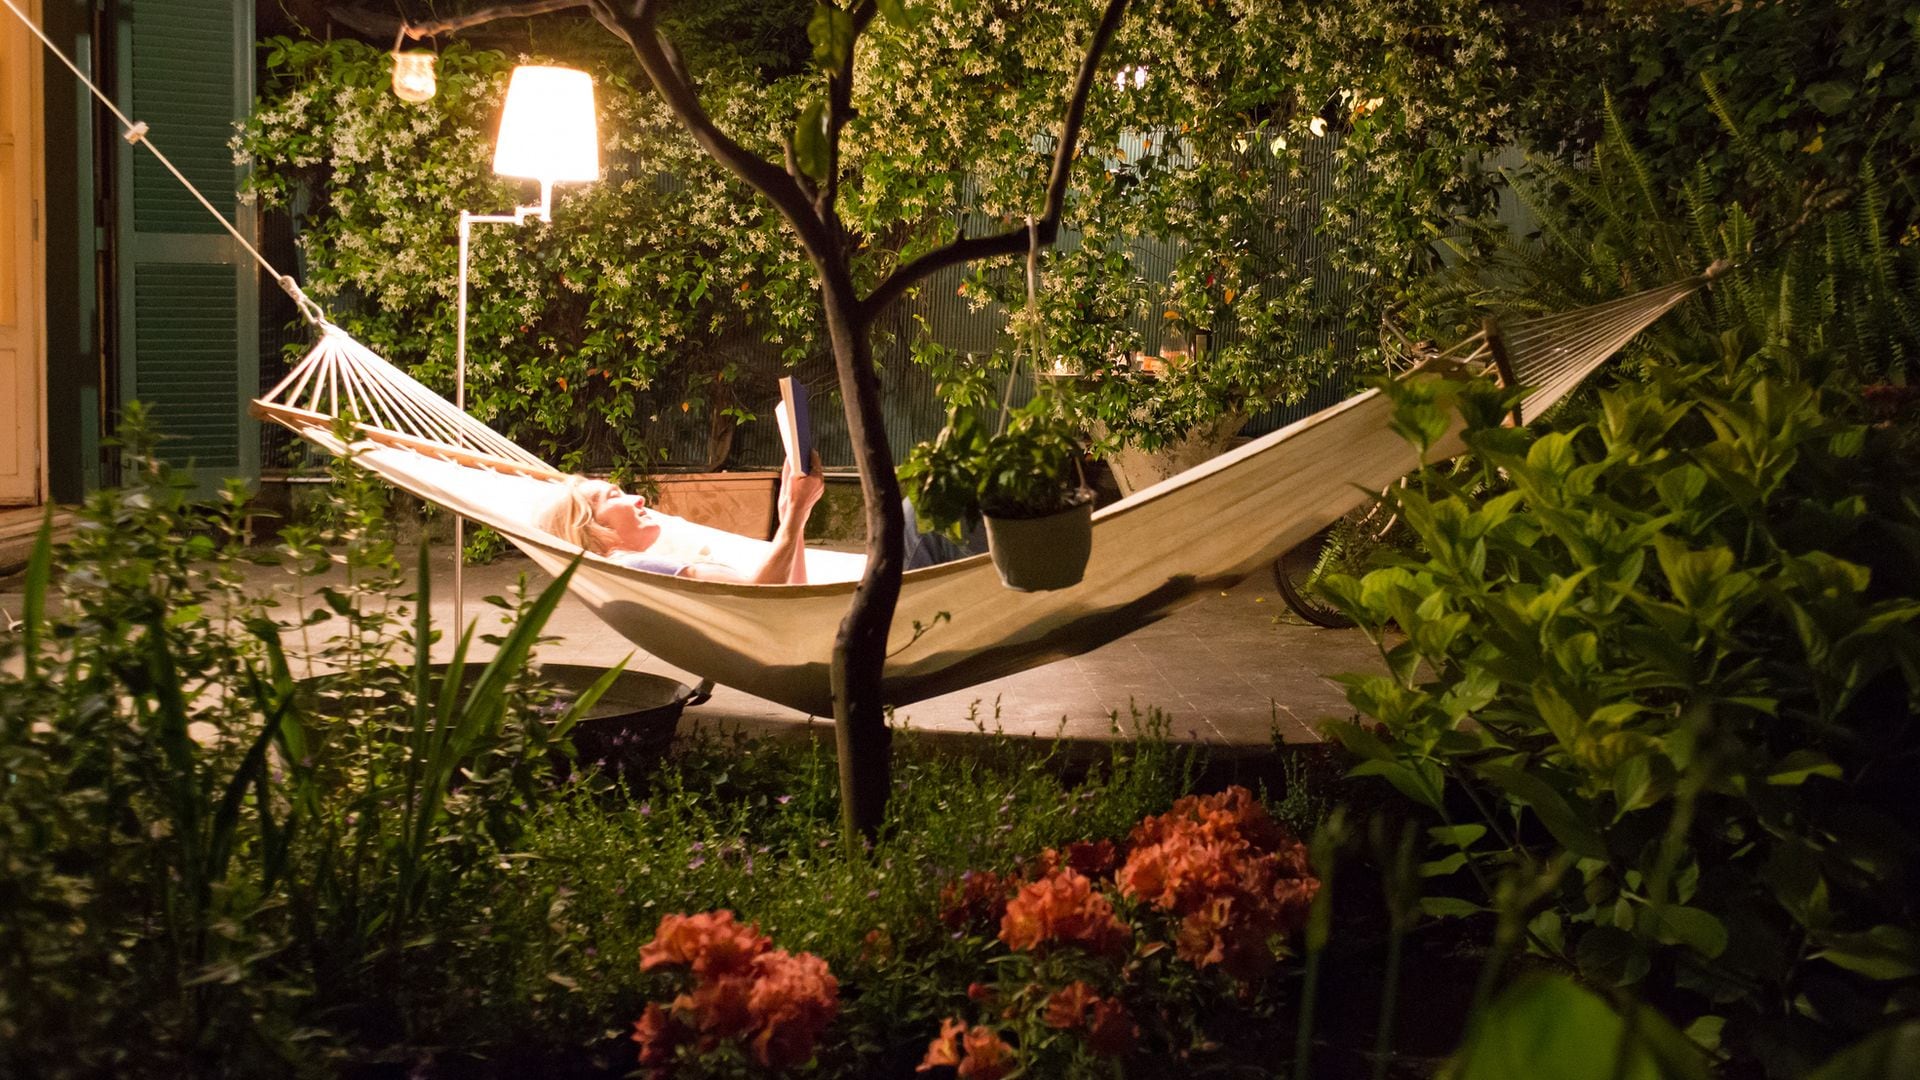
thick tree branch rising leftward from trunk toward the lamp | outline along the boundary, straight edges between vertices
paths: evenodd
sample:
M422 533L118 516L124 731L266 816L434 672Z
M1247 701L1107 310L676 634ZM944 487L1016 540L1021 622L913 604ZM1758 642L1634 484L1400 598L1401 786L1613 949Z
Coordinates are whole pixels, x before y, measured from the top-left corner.
M726 165L735 177L745 181L753 190L760 192L780 209L781 217L793 225L799 233L801 244L814 258L822 261L831 256L831 236L826 227L812 211L812 204L799 183L795 183L780 165L774 165L766 158L760 158L753 150L747 150L739 142L733 142L720 127L707 115L701 106L699 94L693 92L691 81L685 71L676 63L672 46L660 37L655 27L655 17L659 15L655 0L634 0L632 12L620 12L614 8L612 0L589 0L593 17L601 21L603 27L612 31L614 37L624 40L628 48L634 50L634 58L639 60L639 67L647 73L647 81L666 102L666 108L680 119L680 123L693 135L714 161Z

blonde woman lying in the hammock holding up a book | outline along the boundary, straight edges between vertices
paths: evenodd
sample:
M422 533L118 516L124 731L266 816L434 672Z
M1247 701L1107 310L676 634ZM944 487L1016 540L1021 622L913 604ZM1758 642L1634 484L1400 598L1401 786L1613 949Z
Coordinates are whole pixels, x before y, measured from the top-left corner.
M607 480L566 480L561 494L534 515L534 525L637 571L739 584L806 584L806 515L822 492L820 454L814 454L806 475L795 473L789 461L780 471L780 527L774 538L728 536L722 552L707 540L712 530L657 513L643 496L626 494Z

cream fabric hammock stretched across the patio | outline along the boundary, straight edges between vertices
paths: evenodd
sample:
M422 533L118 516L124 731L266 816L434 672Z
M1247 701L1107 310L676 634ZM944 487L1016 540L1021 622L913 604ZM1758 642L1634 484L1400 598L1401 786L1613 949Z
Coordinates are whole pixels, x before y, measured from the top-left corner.
M1588 319L1557 315L1557 332L1511 327L1505 359L1523 380L1538 371L1551 386L1526 398L1526 415L1540 415L1703 281L1592 307ZM1501 350L1475 334L1452 352L1476 361ZM1461 361L1446 367L1457 371ZM1440 377L1432 369L1407 375ZM1006 590L987 555L906 573L889 638L887 701L904 705L1089 651L1244 578L1421 465L1388 425L1390 411L1379 390L1367 390L1100 509L1087 577L1073 588ZM812 584L776 586L582 557L530 525L563 473L330 325L307 359L255 402L255 413L499 530L547 573L580 557L574 594L666 663L793 709L831 713L829 657L862 555L808 552ZM336 417L357 419L351 444L334 434ZM1430 459L1461 450L1455 427ZM755 550L764 550L728 532L695 534L724 561L753 563Z

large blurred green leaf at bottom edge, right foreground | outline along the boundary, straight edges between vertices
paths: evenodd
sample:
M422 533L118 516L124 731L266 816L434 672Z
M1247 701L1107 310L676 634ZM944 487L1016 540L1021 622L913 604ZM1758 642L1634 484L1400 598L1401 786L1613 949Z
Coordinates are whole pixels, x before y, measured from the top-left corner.
M1705 1076L1697 1053L1667 1038L1665 1020L1644 1009L1634 1038L1592 990L1567 976L1532 974L1509 986L1475 1020L1453 1055L1452 1080L1680 1080ZM1678 1038L1674 1034L1672 1038ZM1626 1055L1620 1061L1620 1055Z

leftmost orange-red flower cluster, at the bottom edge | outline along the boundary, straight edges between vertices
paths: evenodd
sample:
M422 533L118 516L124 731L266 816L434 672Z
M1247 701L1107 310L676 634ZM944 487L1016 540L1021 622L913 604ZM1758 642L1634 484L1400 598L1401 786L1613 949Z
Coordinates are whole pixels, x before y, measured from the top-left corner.
M639 969L684 967L695 982L668 1007L649 1003L634 1022L639 1063L664 1070L680 1045L705 1051L728 1040L743 1042L768 1068L806 1063L839 1011L839 980L820 957L770 945L732 911L660 919L653 942L639 947Z

